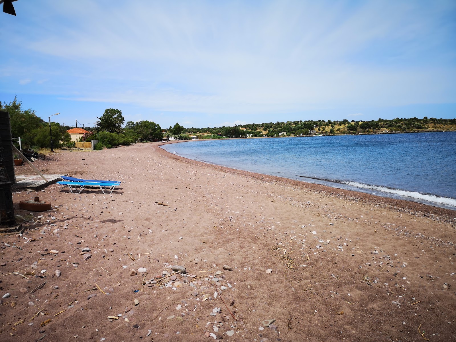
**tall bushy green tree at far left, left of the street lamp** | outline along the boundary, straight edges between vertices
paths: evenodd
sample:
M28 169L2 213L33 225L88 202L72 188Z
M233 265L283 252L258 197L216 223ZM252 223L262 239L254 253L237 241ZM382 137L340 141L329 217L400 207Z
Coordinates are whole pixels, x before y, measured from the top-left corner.
M14 138L21 137L22 147L31 147L33 144L33 131L37 128L46 125L46 123L36 116L32 109L21 109L22 102L17 101L14 97L10 103L0 102L0 109L10 113L11 135ZM49 133L49 126L47 126Z

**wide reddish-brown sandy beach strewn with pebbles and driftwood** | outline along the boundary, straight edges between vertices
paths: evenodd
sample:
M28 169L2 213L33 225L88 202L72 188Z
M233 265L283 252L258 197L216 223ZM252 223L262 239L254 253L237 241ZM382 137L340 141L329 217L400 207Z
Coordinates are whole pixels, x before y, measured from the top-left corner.
M2 341L456 341L455 211L158 146L35 162L122 184L13 193L30 221L1 237ZM52 211L19 209L38 195Z

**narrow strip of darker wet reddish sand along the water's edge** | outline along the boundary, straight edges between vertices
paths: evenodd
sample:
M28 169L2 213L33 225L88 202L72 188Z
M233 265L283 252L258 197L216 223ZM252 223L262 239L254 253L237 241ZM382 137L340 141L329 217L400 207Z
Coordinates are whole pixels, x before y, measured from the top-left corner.
M235 139L242 139L242 138L235 138ZM354 190L340 189L337 187L330 187L330 186L310 183L310 182L306 182L306 181L297 181L297 180L293 180L293 179L286 178L286 177L271 176L271 175L265 175L265 174L261 174L261 173L251 172L251 171L238 170L238 169L230 168L227 166L220 166L217 164L205 163L202 161L196 161L193 159L185 158L185 157L182 157L180 155L175 155L171 152L168 152L168 151L160 148L160 146L163 146L163 145L176 144L176 143L186 142L186 141L190 141L190 140L172 141L172 142L168 142L168 143L158 143L158 145L155 145L155 149L158 150L160 153L164 152L168 158L174 158L174 159L177 159L177 160L189 163L189 164L193 164L193 165L214 167L221 171L226 171L226 172L230 172L230 173L237 174L237 175L250 176L254 179L259 179L259 180L263 180L263 181L279 181L283 184L302 187L305 190L324 192L326 194L330 194L333 196L344 196L346 198L357 198L358 200L363 200L363 201L367 201L370 203L374 203L374 202L382 203L383 205L386 205L386 206L391 206L394 208L397 207L398 209L402 209L405 211L410 211L410 210L419 211L422 213L430 213L430 214L442 216L449 220L456 220L456 210L452 210L452 209L435 207L432 205L428 205L428 204L424 204L424 203L420 203L420 202L409 201L409 200L377 196L377 195L372 195L372 194L368 194L365 192L358 192L358 191L354 191Z

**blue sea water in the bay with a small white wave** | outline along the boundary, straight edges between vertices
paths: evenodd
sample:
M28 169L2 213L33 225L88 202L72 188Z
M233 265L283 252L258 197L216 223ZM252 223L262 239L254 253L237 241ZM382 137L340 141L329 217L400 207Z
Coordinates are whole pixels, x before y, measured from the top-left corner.
M456 210L456 132L201 140L186 158Z

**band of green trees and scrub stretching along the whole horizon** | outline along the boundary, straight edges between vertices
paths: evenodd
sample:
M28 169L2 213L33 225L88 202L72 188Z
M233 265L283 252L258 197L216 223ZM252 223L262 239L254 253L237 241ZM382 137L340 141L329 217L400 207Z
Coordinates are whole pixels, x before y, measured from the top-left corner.
M49 124L36 115L35 110L22 109L21 101L15 97L13 101L0 102L0 109L10 113L11 130L13 137L21 137L23 147L47 147L50 145ZM74 126L51 123L52 139L56 146L74 146L67 130ZM378 119L370 121L355 120L296 120L277 121L261 124L243 124L222 127L190 127L185 128L179 123L169 128L153 121L128 121L125 124L122 111L106 109L97 117L95 127L84 127L88 133L81 141L98 140L95 149L111 148L115 145L130 145L137 141L156 141L164 137L186 140L195 135L199 139L216 138L243 138L279 136L285 132L286 136L305 136L315 132L325 135L341 134L369 134L382 132L420 132L436 130L456 130L456 119L437 119L424 117L423 119L396 118Z

